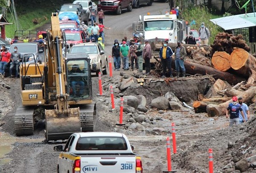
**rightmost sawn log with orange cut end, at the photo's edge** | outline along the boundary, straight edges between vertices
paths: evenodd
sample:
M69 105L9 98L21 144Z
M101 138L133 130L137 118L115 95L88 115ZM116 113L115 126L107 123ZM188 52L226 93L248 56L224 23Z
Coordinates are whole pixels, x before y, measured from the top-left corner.
M247 85L256 81L256 58L244 49L236 48L230 55L230 66L236 73L248 76Z

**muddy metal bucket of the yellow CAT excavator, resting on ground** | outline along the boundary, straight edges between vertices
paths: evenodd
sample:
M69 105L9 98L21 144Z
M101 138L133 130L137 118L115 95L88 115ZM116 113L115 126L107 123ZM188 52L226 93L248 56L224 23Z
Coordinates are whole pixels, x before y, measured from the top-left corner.
M72 133L81 132L79 108L70 108L68 113L57 110L45 110L46 140L68 139Z

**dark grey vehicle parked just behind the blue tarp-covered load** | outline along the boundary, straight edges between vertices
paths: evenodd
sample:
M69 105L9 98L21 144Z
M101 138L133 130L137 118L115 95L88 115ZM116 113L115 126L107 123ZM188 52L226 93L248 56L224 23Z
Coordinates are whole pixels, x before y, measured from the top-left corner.
M83 6L81 4L72 4L66 3L61 6L61 9L58 11L59 15L64 12L72 12L78 15L80 23L84 22L88 25L89 21L89 13L83 10Z

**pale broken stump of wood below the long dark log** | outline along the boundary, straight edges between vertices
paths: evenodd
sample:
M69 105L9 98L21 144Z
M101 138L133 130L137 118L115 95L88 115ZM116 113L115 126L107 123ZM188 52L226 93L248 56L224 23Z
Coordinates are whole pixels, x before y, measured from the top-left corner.
M227 81L222 81L221 79L217 79L204 97L210 98L212 96L216 96L218 95L218 91L224 90L229 86L230 84L228 84Z

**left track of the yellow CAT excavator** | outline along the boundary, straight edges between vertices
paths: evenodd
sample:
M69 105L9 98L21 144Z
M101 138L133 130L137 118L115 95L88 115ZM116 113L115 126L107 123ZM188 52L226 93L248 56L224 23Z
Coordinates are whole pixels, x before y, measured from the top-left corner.
M15 113L15 134L17 136L32 135L34 133L34 108L19 106Z

